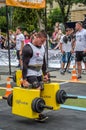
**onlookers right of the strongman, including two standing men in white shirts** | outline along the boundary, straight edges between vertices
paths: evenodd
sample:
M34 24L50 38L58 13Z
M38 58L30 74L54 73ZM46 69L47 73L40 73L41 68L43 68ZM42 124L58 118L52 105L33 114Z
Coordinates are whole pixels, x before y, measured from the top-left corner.
M75 28L66 27L64 34L60 24L57 22L52 37L50 38L50 43L52 49L60 49L62 53L60 73L64 74L65 71L71 73L70 63L72 54L75 53L77 77L78 79L81 78L82 62L86 71L86 29L83 28L83 24L77 22ZM67 63L66 69L65 63Z

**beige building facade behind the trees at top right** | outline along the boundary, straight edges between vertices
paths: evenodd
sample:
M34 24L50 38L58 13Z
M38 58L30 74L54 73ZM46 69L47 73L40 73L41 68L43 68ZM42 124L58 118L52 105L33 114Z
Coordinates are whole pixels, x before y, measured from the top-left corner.
M59 7L58 3L53 1L52 5L47 5L47 13L49 13L54 8ZM75 22L75 21L83 21L86 18L86 6L78 3L73 4L71 10L70 10L70 16L69 21Z

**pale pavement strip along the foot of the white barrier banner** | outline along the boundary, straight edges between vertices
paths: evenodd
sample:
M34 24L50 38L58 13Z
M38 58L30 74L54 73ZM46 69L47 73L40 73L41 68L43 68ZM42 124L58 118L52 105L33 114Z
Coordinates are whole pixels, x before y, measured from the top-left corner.
M6 77L10 75L10 71L11 71L11 75L14 75L16 70L18 69L19 68L16 68L16 67L11 67L11 69L9 69L8 66L0 66L0 84L6 82ZM53 68L48 68L48 71L50 72L52 81L57 81L57 82L62 82L62 81L70 82L71 81L71 78L72 78L71 73L65 72L64 75L61 75L60 69L53 69ZM79 82L86 83L86 72L82 73L82 78L79 79Z

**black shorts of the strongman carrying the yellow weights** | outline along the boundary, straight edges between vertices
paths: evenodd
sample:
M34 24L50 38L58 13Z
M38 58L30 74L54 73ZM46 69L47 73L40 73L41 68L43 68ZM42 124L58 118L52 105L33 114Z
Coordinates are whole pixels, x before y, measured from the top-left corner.
M43 81L43 78L42 78L42 76L28 76L27 77L27 81L30 83L30 84L32 84L33 86L33 88L37 88L37 87L39 87L40 86L40 82L41 81ZM34 84L36 83L36 86L34 86Z

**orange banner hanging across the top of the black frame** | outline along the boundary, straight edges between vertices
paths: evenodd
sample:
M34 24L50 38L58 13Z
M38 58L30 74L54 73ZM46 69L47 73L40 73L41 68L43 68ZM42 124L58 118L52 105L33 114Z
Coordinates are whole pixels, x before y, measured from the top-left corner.
M6 0L6 5L23 8L45 8L45 0Z

